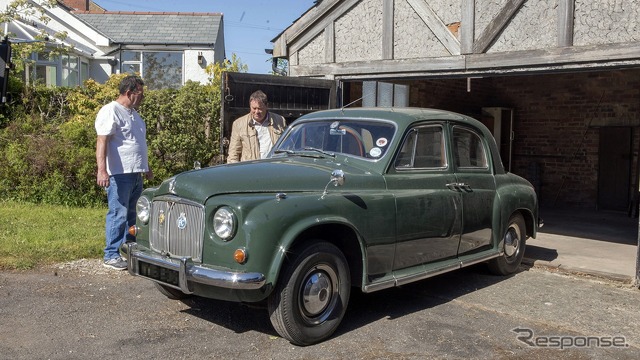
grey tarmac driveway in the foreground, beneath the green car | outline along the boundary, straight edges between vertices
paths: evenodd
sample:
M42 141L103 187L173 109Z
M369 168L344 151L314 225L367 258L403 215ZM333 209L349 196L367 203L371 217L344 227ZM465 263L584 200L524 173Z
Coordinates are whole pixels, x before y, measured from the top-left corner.
M601 278L484 264L372 294L298 347L265 309L162 296L99 260L0 272L0 359L640 358L640 291ZM587 340L589 339L589 340Z

